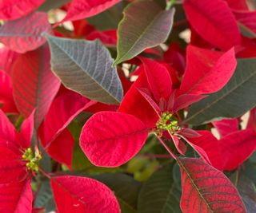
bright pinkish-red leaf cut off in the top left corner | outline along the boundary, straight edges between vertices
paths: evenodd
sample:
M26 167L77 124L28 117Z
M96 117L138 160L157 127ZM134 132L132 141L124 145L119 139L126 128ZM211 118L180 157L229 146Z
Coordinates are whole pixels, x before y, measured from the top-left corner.
M45 0L8 0L0 2L0 19L12 20L21 18L36 10Z

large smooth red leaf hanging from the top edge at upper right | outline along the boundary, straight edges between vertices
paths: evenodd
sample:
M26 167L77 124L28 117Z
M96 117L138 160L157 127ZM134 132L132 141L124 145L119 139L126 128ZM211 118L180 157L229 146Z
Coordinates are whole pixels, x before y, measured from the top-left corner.
M194 30L219 49L230 49L240 43L240 33L234 15L222 0L186 0L186 17Z

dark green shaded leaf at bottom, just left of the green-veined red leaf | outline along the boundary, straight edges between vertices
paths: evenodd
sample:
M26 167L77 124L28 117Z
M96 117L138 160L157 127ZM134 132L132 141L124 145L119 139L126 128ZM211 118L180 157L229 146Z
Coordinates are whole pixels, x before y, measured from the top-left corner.
M166 166L155 172L142 186L138 196L138 213L181 212L181 191L172 178L173 168Z

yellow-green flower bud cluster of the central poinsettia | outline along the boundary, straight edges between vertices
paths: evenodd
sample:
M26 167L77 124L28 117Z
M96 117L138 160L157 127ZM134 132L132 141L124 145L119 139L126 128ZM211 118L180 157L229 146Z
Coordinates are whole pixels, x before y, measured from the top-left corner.
M156 126L158 132L170 131L171 133L174 133L180 130L178 120L176 120L170 112L163 112Z

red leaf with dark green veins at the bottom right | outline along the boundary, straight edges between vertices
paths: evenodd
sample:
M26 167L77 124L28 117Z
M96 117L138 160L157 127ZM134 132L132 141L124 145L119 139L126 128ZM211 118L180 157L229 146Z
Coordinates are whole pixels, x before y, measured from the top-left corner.
M180 158L182 212L246 212L237 189L222 172L202 160Z

